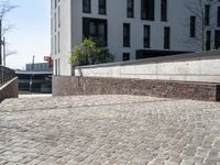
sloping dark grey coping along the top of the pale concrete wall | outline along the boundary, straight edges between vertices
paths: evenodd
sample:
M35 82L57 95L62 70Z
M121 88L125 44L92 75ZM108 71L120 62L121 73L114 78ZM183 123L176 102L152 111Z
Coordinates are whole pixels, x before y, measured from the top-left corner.
M165 62L185 62L185 61L200 61L200 59L219 59L220 51L209 51L209 52L198 52L198 53L188 53L188 54L179 54L179 55L170 55L170 56L161 56L161 57L152 57L144 59L133 59L128 62L116 62L116 63L106 63L106 64L97 64L97 65L88 65L88 66L77 66L76 69L80 68L97 68L97 67L111 67L111 66L125 66L125 65L143 65L143 64L152 64L152 63L165 63Z

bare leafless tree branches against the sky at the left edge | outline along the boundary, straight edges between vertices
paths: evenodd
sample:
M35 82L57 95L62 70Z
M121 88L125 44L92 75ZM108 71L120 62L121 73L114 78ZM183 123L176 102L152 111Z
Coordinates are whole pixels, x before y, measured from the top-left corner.
M2 46L3 44L6 45L3 35L11 29L10 25L6 26L2 22L4 21L6 15L14 8L16 8L16 6L12 6L9 0L0 0L0 65L2 65Z

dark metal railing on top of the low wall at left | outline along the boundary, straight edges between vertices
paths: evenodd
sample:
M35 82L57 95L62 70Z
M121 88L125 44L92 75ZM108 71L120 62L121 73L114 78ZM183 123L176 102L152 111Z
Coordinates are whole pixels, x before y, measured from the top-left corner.
M0 65L0 86L15 77L15 72Z

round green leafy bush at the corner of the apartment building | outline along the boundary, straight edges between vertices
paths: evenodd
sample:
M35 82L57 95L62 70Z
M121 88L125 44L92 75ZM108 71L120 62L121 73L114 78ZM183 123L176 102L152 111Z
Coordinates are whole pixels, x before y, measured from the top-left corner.
M89 37L74 47L69 61L75 65L95 65L113 62L113 55L98 38Z

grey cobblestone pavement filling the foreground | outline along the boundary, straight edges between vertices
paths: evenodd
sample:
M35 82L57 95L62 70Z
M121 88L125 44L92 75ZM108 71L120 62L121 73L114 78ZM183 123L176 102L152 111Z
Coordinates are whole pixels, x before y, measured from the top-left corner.
M8 99L0 165L220 165L220 103L139 96Z

